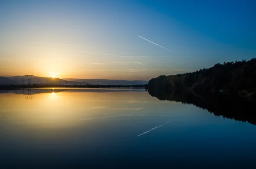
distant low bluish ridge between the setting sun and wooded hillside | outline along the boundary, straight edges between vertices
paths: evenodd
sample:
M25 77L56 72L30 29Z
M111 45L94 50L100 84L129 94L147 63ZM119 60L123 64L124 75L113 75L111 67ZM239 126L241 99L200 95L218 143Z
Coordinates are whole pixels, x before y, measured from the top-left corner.
M148 81L145 80L108 80L108 79L72 79L64 78L64 80L72 80L77 82L87 82L90 84L99 84L99 85L141 85L147 84Z

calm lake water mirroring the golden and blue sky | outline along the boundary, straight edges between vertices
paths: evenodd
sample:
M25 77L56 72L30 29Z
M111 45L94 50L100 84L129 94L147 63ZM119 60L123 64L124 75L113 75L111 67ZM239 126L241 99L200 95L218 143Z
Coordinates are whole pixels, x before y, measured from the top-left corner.
M143 89L0 91L0 168L256 168L256 125Z

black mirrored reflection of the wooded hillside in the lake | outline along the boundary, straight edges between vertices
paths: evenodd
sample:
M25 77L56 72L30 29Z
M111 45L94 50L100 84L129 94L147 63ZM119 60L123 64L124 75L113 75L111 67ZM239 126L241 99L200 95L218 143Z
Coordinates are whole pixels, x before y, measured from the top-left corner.
M195 92L183 90L182 92L163 92L162 90L148 90L149 95L159 100L169 100L192 104L206 109L216 116L223 116L242 122L256 124L256 104L237 95L204 94L197 95Z

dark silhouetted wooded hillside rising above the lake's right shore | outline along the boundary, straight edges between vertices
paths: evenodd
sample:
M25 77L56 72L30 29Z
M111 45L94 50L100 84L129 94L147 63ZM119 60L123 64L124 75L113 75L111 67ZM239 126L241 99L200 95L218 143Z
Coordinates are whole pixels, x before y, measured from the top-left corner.
M244 96L256 94L256 58L217 63L196 72L159 76L146 85L150 90L180 91L189 88L196 92L230 92Z

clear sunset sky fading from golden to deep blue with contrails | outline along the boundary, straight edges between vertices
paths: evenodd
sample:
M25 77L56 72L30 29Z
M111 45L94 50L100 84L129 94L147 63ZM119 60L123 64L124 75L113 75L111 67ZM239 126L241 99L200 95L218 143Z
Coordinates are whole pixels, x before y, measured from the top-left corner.
M150 80L256 57L254 0L1 0L0 76Z

